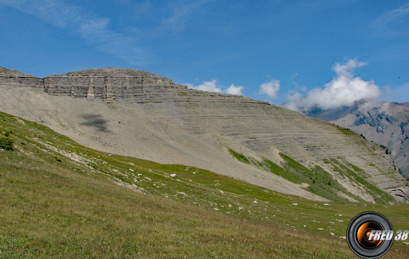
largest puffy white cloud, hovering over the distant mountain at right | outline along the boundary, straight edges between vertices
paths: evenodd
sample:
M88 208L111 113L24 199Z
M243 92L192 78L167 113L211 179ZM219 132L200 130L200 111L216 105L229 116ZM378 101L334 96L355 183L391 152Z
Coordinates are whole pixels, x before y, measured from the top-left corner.
M365 81L355 77L355 68L364 66L366 63L356 59L349 59L345 63L335 63L332 70L335 76L332 81L325 84L323 88L311 89L306 96L300 93L289 93L289 102L284 107L308 112L313 107L323 110L351 106L360 99L373 99L379 96L379 87L373 81Z

